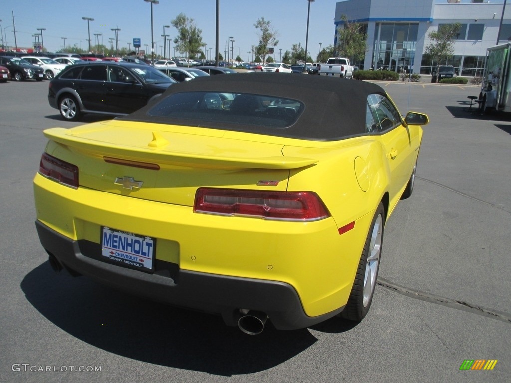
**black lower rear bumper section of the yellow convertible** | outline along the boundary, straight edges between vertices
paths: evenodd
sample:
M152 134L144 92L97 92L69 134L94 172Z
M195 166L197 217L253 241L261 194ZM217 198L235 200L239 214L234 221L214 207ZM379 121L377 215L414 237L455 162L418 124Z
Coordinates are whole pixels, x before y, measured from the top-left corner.
M44 249L68 271L152 300L220 314L230 326L237 324L239 309L264 312L277 329L290 330L327 320L343 308L310 317L288 283L187 271L162 260L156 260L153 274L125 269L94 259L99 244L72 240L39 221L36 227Z

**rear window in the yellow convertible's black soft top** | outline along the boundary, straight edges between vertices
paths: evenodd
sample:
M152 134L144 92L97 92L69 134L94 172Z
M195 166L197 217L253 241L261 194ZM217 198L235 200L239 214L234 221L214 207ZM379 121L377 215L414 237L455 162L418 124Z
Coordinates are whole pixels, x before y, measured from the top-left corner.
M287 128L293 125L304 104L286 98L249 93L181 92L173 93L149 109L148 115L187 122L191 126L253 131L243 126ZM168 121L169 123L179 122Z

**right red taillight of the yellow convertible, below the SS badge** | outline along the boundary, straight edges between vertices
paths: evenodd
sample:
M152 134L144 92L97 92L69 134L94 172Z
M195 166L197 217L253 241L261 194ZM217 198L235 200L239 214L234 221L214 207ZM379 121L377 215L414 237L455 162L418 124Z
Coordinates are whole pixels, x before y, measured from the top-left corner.
M318 221L329 217L313 192L274 192L200 187L194 212L282 221Z

